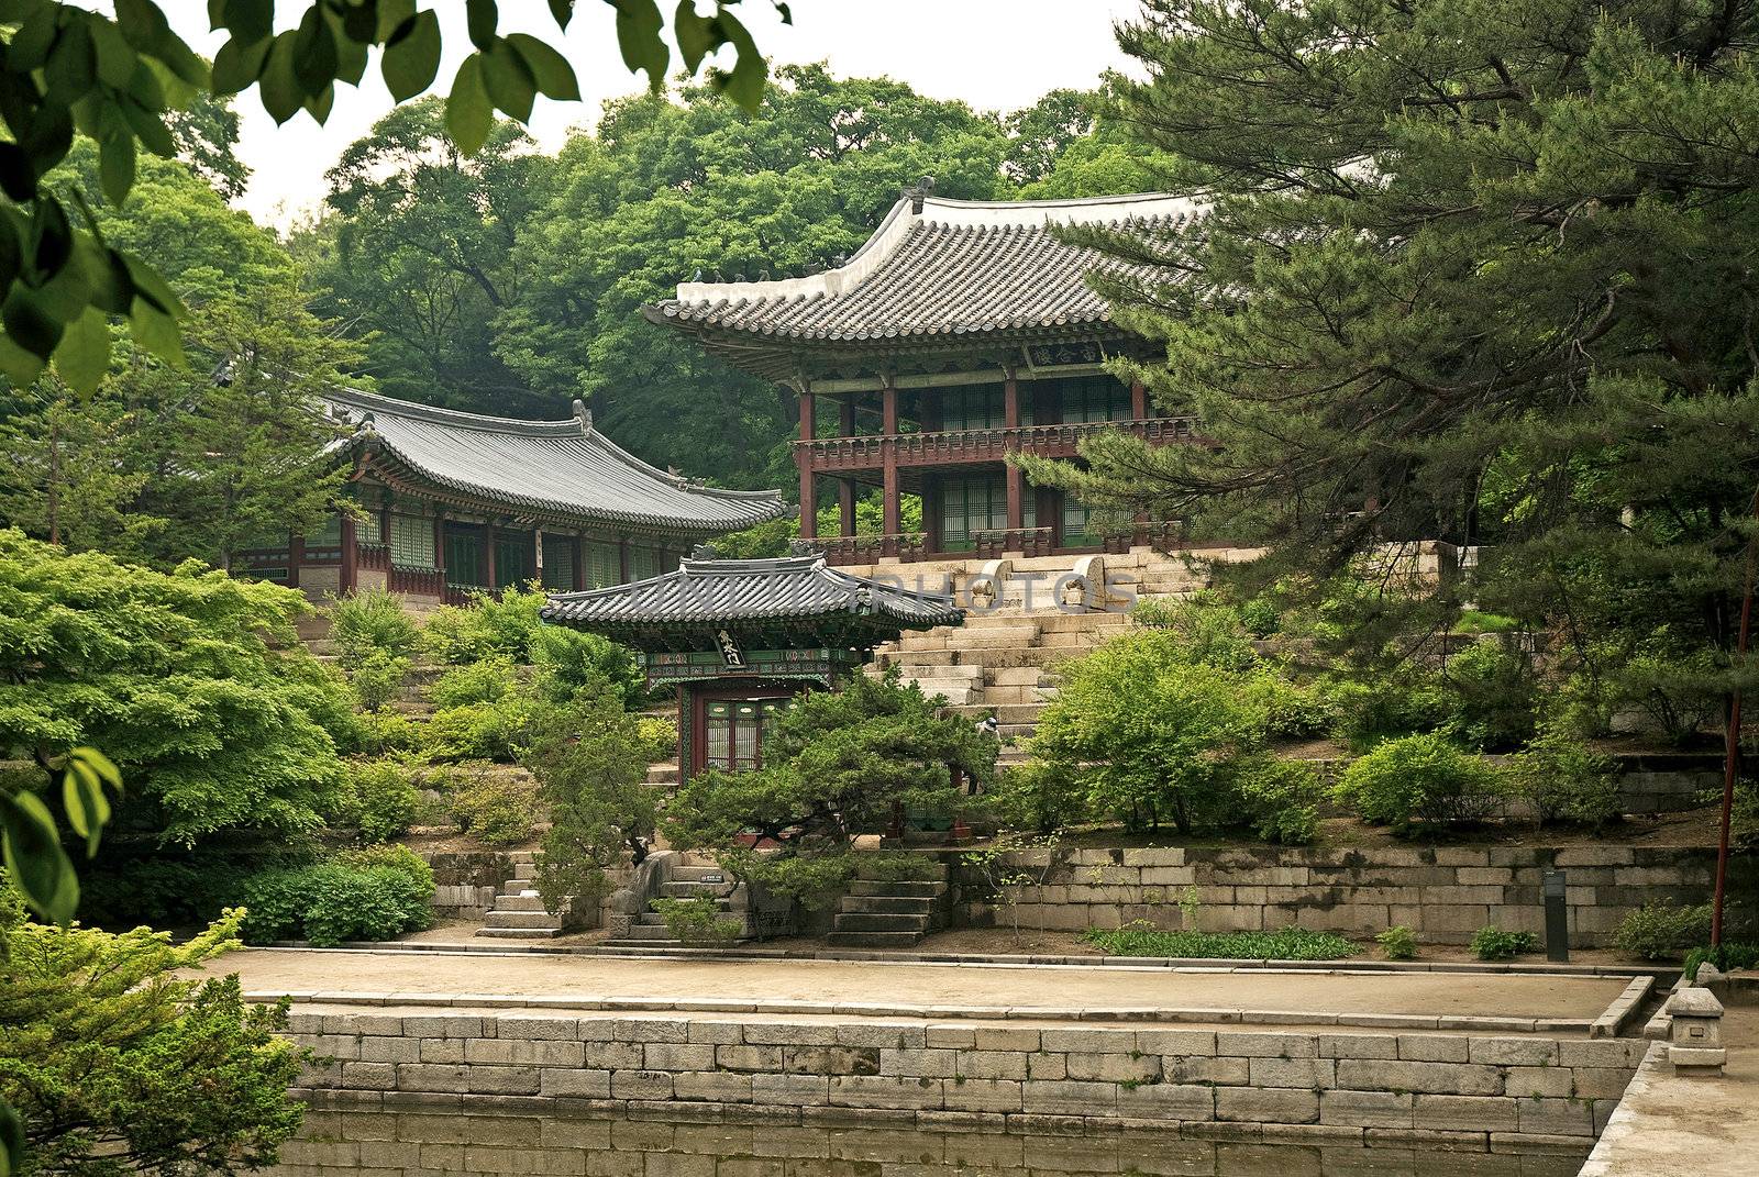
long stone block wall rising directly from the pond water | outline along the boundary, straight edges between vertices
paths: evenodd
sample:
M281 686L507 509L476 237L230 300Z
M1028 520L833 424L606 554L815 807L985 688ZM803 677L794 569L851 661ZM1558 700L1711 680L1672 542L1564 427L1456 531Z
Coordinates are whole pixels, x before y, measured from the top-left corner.
M748 1107L1242 1126L1455 1147L1595 1137L1639 1040L563 1012L296 1012L310 1089L535 1098L712 1119ZM566 1110L563 1103L556 1110Z

